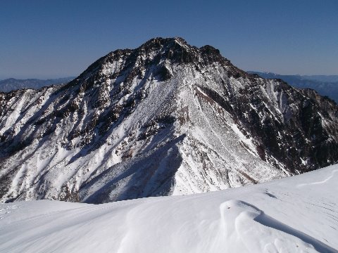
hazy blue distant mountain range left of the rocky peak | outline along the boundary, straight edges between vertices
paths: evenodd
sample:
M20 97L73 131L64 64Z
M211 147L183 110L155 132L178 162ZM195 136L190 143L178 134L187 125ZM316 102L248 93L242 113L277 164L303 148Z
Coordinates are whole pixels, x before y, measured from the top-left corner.
M40 89L44 86L54 84L65 84L72 81L75 77L63 77L58 79L14 79L8 78L0 81L0 91L9 92L18 89Z

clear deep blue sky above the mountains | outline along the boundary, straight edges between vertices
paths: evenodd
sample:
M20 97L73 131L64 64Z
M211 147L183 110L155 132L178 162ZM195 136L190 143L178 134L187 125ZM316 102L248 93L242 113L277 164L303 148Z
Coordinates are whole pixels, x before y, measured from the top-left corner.
M0 1L0 79L77 76L152 37L210 44L244 70L338 74L337 0Z

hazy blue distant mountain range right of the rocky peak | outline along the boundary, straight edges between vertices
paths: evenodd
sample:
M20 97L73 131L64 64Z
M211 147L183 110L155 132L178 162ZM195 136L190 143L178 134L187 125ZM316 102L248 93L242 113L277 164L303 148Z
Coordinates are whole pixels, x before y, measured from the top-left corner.
M282 79L296 88L308 88L318 91L322 96L328 96L338 103L338 75L284 75L271 72L248 71L267 79Z

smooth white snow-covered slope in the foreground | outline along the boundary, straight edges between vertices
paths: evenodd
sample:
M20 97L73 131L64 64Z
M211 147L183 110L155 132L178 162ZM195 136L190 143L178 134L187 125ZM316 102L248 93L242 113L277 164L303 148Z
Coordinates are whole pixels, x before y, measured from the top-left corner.
M337 180L333 165L196 195L1 204L0 252L338 252Z

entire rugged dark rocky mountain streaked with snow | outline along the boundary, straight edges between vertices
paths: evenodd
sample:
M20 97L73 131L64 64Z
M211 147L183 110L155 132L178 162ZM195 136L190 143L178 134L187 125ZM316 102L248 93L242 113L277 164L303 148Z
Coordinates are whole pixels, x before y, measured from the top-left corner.
M3 202L201 193L338 162L338 108L156 38L68 84L0 93L0 150Z

